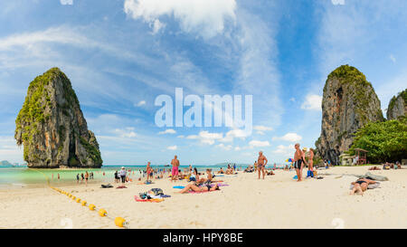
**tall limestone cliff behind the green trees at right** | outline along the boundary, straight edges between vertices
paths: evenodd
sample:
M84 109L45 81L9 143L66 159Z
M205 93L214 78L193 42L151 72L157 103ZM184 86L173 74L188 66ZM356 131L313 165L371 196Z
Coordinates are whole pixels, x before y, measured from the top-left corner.
M319 155L336 165L336 157L352 146L356 130L370 121L383 121L372 84L349 65L332 71L324 87L321 136L316 142Z

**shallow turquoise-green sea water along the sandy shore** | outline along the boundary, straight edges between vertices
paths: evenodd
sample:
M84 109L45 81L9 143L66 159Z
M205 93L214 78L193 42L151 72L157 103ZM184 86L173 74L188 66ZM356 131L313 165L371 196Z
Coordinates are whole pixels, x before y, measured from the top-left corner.
M139 170L146 170L146 166L125 166L131 172L128 176L133 179L140 177ZM152 166L153 168L171 168L170 166ZM180 166L180 169L187 168L188 166ZM194 166L198 171L203 171L206 168L213 168L219 170L220 167L225 166ZM239 166L238 166L239 167ZM243 169L245 166L242 166ZM115 171L120 170L121 166L102 166L95 169L32 169L23 167L3 167L0 168L0 188L22 188L26 186L45 185L46 178L52 181L55 185L69 185L76 183L77 174L85 174L86 171L93 172L94 179L90 183L113 183ZM41 172L38 172L41 171ZM104 175L103 175L104 173ZM58 174L60 179L58 179ZM53 175L53 180L52 180Z

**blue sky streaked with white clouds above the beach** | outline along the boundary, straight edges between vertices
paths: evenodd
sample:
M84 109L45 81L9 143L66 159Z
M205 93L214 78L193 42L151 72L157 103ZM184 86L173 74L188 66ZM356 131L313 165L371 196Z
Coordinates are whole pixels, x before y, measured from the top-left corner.
M271 163L313 147L327 74L364 72L382 102L407 85L404 0L0 2L0 159L35 76L71 79L106 165ZM253 95L253 132L158 128L160 94Z

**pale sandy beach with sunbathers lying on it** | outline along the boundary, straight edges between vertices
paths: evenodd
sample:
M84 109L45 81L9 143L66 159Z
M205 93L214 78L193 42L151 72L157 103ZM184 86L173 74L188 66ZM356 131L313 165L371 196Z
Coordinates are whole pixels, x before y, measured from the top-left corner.
M105 209L108 217L50 189L38 187L0 189L0 228L96 228L118 227L112 218L123 217L128 228L407 228L407 169L368 171L369 166L337 166L318 170L323 179L296 182L295 171L276 170L275 176L257 178L257 173L216 177L220 191L180 195L169 178L154 179L152 185L127 183L128 188L100 188L100 184L52 184ZM389 181L364 195L349 195L355 176L371 172ZM323 174L332 174L324 176ZM304 169L304 174L307 170ZM161 203L136 202L134 195L161 188Z

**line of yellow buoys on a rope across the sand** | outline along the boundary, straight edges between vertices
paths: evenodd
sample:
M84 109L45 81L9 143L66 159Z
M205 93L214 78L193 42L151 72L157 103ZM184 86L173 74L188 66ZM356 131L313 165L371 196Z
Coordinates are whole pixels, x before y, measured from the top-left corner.
M88 202L86 202L85 200L81 200L79 197L76 197L75 195L71 195L70 193L68 193L68 192L66 192L66 191L63 191L63 190L60 189L60 188L57 188L57 187L52 186L51 183L50 183L49 177L46 176L42 171L39 171L39 170L37 170L37 169L33 169L33 170L36 171L36 172L41 173L41 174L45 177L45 179L46 179L46 181L47 181L47 185L48 185L52 190L54 190L54 191L56 191L56 192L58 192L58 193L60 193L60 194L62 194L62 195L67 195L69 198L71 198L72 201L75 201L76 203L81 204L82 206L88 206L88 208L90 209L90 211L98 211L98 214L99 214L100 217L107 217L107 218L109 218L110 220L113 220L114 223L115 223L118 227L124 227L124 228L126 228L126 229L128 228L128 222L127 222L124 218L122 218L122 217L115 217L115 218L113 218L113 217L111 217L111 216L108 214L108 212L107 212L105 209L100 208L100 209L98 210L98 208L96 207L95 204L89 204L89 205L88 205Z

